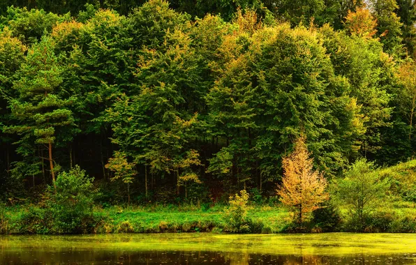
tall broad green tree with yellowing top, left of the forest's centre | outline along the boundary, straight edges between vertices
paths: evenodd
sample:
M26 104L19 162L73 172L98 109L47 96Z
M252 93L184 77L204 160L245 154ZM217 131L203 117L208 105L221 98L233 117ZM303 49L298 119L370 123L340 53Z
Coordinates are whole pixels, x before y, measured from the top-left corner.
M198 56L188 34L178 29L164 38L158 50L142 49L135 70L137 94L122 96L108 109L106 121L112 123L113 142L135 162L172 174L179 183L188 142L198 137L195 126L204 91L198 86Z

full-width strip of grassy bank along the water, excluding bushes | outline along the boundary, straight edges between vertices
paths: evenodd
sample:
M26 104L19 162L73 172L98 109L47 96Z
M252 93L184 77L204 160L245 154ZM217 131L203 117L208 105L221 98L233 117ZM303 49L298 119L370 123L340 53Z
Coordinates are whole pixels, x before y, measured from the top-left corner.
M211 209L196 206L94 207L92 215L79 222L81 225L68 228L71 224L54 220L47 209L13 206L0 212L0 234L222 233L226 232L222 211L223 206ZM251 206L248 218L248 234L355 232L342 210L338 223L332 220L334 216L321 216L305 224L302 230L295 229L291 214L282 207ZM415 204L398 204L388 211L378 209L366 222L365 232L416 232Z

